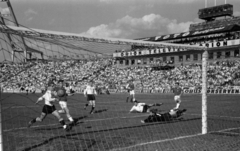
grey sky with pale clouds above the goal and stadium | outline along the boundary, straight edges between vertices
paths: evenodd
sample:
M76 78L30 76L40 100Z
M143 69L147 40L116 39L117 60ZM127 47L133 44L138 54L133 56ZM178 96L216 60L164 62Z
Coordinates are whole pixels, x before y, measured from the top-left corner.
M137 39L188 31L198 10L239 0L10 0L18 23L88 36ZM205 3L207 2L207 3ZM6 4L0 3L6 12Z

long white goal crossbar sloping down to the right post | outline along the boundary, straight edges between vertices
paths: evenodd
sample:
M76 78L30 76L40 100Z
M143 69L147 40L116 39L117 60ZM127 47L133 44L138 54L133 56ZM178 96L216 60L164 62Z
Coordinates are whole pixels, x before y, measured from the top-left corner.
M66 33L66 32L56 32L42 29L32 29L26 27L16 27L16 26L0 26L0 32L12 33L15 35L21 35L23 37L28 38L37 38L38 40L59 40L60 42L64 42L64 40L68 40L69 47L78 47L78 41L86 41L86 42L95 42L95 43L107 43L107 44L115 44L115 45L135 45L135 46L149 46L149 47L170 47L177 49L185 49L185 50L204 50L206 47L203 46L195 46L195 45L184 45L184 44L172 44L165 42L150 42L150 41L142 41L142 40L130 40L130 39L120 39L120 38L99 38L93 36L86 36L80 34Z

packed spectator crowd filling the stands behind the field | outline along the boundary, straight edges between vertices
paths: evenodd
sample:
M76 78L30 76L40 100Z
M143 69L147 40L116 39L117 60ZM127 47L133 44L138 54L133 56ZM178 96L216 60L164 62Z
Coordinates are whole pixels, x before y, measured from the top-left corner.
M42 90L49 79L63 79L66 87L82 90L89 81L97 88L124 89L134 79L136 89L170 89L177 81L182 87L201 88L199 64L154 70L151 67L118 68L113 59L97 61L59 61L0 64L0 83L4 90ZM208 64L208 87L240 86L240 61L216 61Z

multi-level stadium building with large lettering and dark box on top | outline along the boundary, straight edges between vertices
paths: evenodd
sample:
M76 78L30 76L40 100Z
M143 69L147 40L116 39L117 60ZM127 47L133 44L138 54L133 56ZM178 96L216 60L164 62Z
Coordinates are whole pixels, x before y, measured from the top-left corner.
M191 24L188 32L144 37L137 40L167 42L206 46L208 60L229 60L239 58L240 16L233 16L233 5L224 4L198 11L204 22ZM117 66L179 66L201 63L201 51L161 47L132 46L130 50L116 50L113 53Z

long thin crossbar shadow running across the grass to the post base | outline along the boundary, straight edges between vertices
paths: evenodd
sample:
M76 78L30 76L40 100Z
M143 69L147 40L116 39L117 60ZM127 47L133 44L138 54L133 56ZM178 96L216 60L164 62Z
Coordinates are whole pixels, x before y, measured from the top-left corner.
M136 125L136 126L109 128L109 129L103 129L103 130L93 130L93 131L88 131L88 132L77 132L77 133L71 133L71 134L65 134L65 135L63 134L63 135L60 135L60 136L54 136L54 137L51 137L49 139L46 139L46 140L44 140L43 142L41 142L39 144L36 144L36 145L33 145L33 146L30 146L28 148L23 149L23 151L30 151L30 150L35 149L37 147L46 145L46 144L48 144L51 141L56 140L56 139L63 138L63 139L70 139L71 140L72 136L77 136L77 135L93 134L93 133L99 133L99 132L109 132L109 131L115 131L115 130L121 130L121 129L131 129L131 128L138 128L138 127L148 127L148 126L151 126L151 125L161 125L161 124L176 123L176 122L187 122L187 121L200 120L200 119L201 118L179 119L179 120L173 120L173 121L167 121L167 122L154 122L154 123L147 123L147 124L141 124L141 125ZM44 129L44 130L46 130L46 129ZM93 143L87 145L87 149L86 150L91 148L97 142L95 139L90 139L90 140L85 140L84 139L84 141L91 141L91 142L93 142Z

